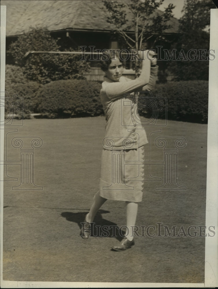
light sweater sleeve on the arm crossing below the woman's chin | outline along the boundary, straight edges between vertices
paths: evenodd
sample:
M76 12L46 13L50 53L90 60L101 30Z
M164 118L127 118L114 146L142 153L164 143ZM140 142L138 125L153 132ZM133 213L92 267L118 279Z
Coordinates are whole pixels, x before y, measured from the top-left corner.
M105 87L107 97L111 100L118 99L123 97L124 94L131 93L139 87L148 84L150 79L150 65L149 60L143 60L141 75L134 80L108 83Z

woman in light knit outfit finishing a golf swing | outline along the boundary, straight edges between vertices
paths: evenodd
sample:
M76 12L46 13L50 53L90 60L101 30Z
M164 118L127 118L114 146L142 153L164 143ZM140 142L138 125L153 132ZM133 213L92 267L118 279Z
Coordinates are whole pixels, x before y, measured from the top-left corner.
M113 51L112 51L113 52ZM134 79L122 76L123 63L119 54L108 53L108 60L101 62L105 72L100 98L106 116L105 138L101 159L100 187L95 194L81 236L90 236L91 224L99 208L107 199L126 202L126 234L115 251L124 251L134 245L132 228L135 226L138 202L142 200L143 166L131 165L131 161L143 159L146 132L137 118L136 92L152 90L158 66L156 59L147 58L148 51L139 51L142 60L141 75ZM151 67L152 65L152 67ZM129 161L129 165L125 165ZM132 180L131 180L132 179Z

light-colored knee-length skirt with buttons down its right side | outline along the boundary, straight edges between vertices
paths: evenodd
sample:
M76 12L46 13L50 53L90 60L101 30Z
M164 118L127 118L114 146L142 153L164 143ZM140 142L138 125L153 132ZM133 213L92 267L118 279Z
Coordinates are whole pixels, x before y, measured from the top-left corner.
M101 157L100 196L105 199L141 202L144 146L138 149L110 151L103 149Z

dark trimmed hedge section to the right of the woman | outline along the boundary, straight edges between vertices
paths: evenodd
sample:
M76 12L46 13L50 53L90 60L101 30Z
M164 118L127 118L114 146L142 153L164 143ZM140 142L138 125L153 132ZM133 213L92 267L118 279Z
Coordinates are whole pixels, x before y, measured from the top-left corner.
M167 119L194 123L207 123L208 120L208 81L178 81L157 84L153 96L161 94L167 98ZM165 114L159 111L159 118ZM147 111L144 116L151 116Z

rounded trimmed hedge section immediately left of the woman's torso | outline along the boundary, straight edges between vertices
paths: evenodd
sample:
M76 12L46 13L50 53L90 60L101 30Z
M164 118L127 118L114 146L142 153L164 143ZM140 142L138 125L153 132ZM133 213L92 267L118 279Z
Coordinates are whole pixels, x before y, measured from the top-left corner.
M36 95L37 112L47 118L98 116L103 114L96 81L58 80L42 86Z

